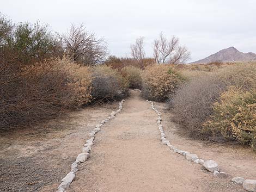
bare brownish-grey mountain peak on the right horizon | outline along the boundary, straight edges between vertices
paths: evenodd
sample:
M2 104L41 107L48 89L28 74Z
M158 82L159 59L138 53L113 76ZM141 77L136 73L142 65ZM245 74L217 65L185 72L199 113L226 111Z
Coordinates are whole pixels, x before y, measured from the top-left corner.
M214 61L222 61L222 62L231 62L231 61L254 61L256 60L255 53L242 53L238 51L235 47L229 47L222 49L221 51L210 55L204 59L200 59L198 61L194 61L191 64L205 64Z

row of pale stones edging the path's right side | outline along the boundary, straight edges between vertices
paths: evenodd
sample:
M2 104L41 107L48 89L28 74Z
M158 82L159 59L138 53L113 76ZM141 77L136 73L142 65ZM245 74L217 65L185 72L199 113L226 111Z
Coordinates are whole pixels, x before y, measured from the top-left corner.
M147 100L148 101L148 100ZM161 133L161 141L163 145L167 145L171 150L173 150L176 153L181 154L182 156L185 156L185 158L190 161L197 164L203 165L203 167L212 172L212 174L215 177L219 178L227 178L229 175L225 172L220 171L220 167L218 166L218 163L216 163L214 160L203 160L200 159L197 154L190 153L188 151L182 151L179 150L179 148L176 148L175 146L170 144L170 141L166 139L166 135L164 134L163 126L162 126L162 118L161 113L155 108L154 103L152 101L148 101L151 103L151 108L156 112L158 115L157 118L157 125L159 127L160 133ZM253 179L244 179L242 177L233 177L231 179L232 182L237 184L242 184L243 188L247 191L256 192L256 180Z

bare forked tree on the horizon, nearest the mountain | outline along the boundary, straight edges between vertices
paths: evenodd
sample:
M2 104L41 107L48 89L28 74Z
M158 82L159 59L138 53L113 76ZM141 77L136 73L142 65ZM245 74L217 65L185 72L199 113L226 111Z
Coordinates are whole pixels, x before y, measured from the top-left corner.
M175 36L168 40L161 32L159 39L153 44L154 58L157 64L181 64L190 59L190 52L185 46L179 45Z

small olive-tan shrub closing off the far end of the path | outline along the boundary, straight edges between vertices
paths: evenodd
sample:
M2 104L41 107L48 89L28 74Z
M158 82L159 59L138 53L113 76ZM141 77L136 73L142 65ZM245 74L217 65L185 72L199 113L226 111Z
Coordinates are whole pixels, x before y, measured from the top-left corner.
M121 70L122 75L129 83L129 88L131 89L141 89L142 88L142 77L141 69L134 66L126 66Z

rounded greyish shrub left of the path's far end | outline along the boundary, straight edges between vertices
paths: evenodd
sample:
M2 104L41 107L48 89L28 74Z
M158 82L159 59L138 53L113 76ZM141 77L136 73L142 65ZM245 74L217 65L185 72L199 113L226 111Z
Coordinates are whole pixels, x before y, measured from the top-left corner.
M94 102L120 100L127 95L127 82L117 70L102 65L92 68Z

